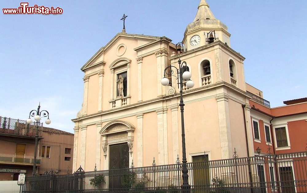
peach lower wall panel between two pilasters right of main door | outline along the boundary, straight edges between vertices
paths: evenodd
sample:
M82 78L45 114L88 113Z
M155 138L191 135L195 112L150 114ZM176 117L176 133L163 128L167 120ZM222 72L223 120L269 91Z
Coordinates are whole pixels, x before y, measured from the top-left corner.
M143 165L150 166L153 163L153 157L158 163L158 130L157 113L144 113L143 118Z

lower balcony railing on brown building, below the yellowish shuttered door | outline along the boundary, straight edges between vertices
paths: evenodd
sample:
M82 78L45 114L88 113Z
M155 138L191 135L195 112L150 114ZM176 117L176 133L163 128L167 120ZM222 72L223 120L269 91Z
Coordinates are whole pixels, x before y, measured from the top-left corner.
M14 154L4 154L0 153L0 163L21 163L21 164L33 164L34 157L26 155L14 155ZM41 157L36 157L36 164L41 164Z

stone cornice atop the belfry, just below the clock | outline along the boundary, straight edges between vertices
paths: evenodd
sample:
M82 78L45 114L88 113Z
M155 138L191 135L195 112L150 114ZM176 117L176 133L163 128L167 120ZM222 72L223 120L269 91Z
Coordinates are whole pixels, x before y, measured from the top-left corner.
M181 54L180 54L180 57L184 57L184 56L190 55L190 54L192 54L192 53L194 53L194 52L201 51L201 50L203 50L203 49L207 49L207 48L209 48L209 47L214 47L214 46L217 46L217 45L223 47L224 49L226 49L227 51L231 52L233 55L237 56L238 58L240 58L240 59L242 59L242 60L245 60L245 58L244 58L242 55L240 55L238 52L236 52L235 50L233 50L231 47L226 46L226 45L223 44L223 42L221 42L221 41L216 41L216 42L213 42L213 43L211 43L211 44L204 45L204 46L195 48L195 49L193 49L193 50L189 50L189 51L187 51L187 52L181 53ZM173 59L179 59L179 55L174 55L174 56L169 57L169 60L173 60Z

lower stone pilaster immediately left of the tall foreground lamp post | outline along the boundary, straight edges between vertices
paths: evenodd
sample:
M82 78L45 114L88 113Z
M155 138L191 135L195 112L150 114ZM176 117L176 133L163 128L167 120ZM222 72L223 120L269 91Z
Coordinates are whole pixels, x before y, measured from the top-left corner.
M172 111L172 133L173 133L173 164L179 155L179 130L178 130L178 105L171 106Z

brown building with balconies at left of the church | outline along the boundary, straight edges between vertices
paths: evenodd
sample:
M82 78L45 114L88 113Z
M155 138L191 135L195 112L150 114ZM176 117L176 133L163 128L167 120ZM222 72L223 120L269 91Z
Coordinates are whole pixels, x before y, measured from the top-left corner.
M31 176L36 127L24 120L0 117L0 180L17 180L20 173ZM73 134L43 127L38 131L37 173L72 172Z

